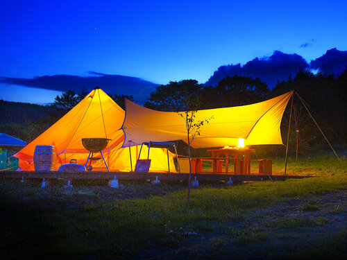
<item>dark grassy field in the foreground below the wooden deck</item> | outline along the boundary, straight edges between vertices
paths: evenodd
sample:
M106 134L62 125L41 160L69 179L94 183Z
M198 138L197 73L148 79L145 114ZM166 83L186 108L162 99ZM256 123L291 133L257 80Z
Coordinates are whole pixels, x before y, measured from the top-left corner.
M273 169L283 171L274 160ZM0 182L0 250L12 258L343 259L346 159L289 161L285 182Z

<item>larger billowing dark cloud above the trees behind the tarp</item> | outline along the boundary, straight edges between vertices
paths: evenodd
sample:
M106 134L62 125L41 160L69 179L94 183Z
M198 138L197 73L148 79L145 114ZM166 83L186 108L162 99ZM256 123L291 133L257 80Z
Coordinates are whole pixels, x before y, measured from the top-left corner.
M244 66L240 64L221 66L205 84L215 86L226 76L238 75L261 78L269 87L274 87L278 81L286 80L289 76L295 76L300 69L308 68L309 64L301 55L274 51L270 57L255 58Z

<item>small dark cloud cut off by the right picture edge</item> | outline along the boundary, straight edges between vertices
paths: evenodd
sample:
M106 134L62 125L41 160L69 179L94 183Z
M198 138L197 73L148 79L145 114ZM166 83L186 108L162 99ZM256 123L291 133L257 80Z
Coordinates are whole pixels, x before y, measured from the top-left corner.
M311 61L312 69L322 72L340 73L347 66L347 51L336 48L328 50L324 55Z

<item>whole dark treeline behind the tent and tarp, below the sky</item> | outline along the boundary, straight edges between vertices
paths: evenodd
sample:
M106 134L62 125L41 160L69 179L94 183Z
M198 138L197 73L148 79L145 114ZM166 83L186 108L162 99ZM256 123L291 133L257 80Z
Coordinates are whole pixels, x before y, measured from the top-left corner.
M180 111L180 104L182 104L182 98L185 95L194 95L198 98L198 109L249 105L294 90L303 98L314 119L319 123L329 141L332 141L332 145L344 149L346 148L346 86L347 68L339 75L299 71L294 78L288 78L278 83L272 90L259 78L254 79L246 76L228 76L219 81L215 87L199 84L196 80L181 80L157 87L144 106L162 111ZM36 121L25 112L21 117L23 120L11 121L8 113L6 120L1 121L0 132L6 132L8 135L24 139L24 141L32 141L81 101L86 94L85 89L80 94L71 90L62 93L61 96L56 97L51 107L31 112L31 114L44 115L38 117ZM122 108L124 108L124 98L134 101L133 96L110 93L108 95ZM3 108L3 110L15 111L14 108L8 109L8 107ZM287 105L281 125L284 143L287 140L289 110L290 103ZM19 114L21 112L15 112L13 118L18 117ZM323 135L307 114L298 96L294 95L289 138L289 153L291 155L295 154L297 137L299 155L312 151L329 150ZM260 154L283 155L285 147L258 146L257 150L260 151Z

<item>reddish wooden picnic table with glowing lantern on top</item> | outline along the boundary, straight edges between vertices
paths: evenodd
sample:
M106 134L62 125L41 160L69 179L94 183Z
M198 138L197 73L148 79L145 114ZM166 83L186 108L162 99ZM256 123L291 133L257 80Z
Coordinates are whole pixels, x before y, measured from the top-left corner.
M219 148L219 149L211 149L208 152L212 152L212 158L214 159L212 162L213 173L217 173L217 161L219 159L226 160L226 173L229 171L229 159L234 160L234 173L239 174L250 174L251 173L251 153L255 153L254 149L250 148ZM221 157L221 155L225 155L225 157ZM230 157L232 155L232 157ZM243 155L244 158L238 157L238 155ZM237 164L239 160L243 159L242 167L240 167L239 171L237 168ZM241 164L240 164L241 166Z

